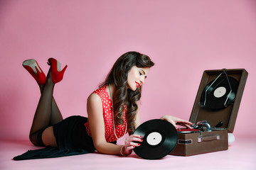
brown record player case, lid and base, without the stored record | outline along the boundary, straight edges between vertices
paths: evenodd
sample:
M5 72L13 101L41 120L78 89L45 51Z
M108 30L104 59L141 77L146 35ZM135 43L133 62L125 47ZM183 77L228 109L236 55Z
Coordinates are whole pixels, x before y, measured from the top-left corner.
M210 81L216 79L218 75L224 71L228 74L228 77L233 77L239 83L235 101L226 108L218 110L202 108L199 106L199 102L203 89L205 89ZM233 132L234 130L235 120L238 115L242 93L245 89L247 75L248 73L245 69L218 69L206 70L203 72L201 84L198 88L198 93L189 120L192 123L207 120L210 126L213 127L213 130L209 132L178 132L177 145L170 154L191 156L228 149L228 132ZM223 125L220 128L214 128L220 121L223 122Z

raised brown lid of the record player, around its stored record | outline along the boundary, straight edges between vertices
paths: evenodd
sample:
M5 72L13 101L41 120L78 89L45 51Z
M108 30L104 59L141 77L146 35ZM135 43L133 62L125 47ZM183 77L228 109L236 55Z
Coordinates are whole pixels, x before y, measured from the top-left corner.
M214 81L223 71L226 74L228 74L228 77L232 77L233 79L236 79L238 81L238 90L236 91L235 100L233 101L232 104L228 105L225 108L209 109L201 107L199 103L201 102L203 90L211 81ZM240 102L242 99L242 93L245 89L247 75L248 73L245 69L205 70L203 72L203 77L198 88L198 93L196 95L196 100L193 105L191 117L189 120L192 123L207 120L208 123L210 123L210 125L213 128L216 125L220 125L220 122L223 122L223 124L219 128L226 128L228 129L228 132L233 132L235 128L235 120L237 118Z

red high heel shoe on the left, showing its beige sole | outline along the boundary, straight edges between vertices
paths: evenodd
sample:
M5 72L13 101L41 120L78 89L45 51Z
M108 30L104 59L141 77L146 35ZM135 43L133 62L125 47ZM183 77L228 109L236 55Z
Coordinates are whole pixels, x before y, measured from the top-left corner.
M23 67L28 70L28 72L32 75L38 84L46 83L46 74L43 73L42 69L38 66L38 63L34 59L25 60L22 63Z

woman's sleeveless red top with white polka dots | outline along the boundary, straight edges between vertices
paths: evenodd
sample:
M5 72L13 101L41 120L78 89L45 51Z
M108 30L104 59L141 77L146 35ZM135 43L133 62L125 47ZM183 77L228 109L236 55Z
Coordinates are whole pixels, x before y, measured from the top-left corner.
M117 140L117 137L120 138L124 135L126 124L127 124L127 120L126 120L127 108L124 108L124 117L123 117L124 125L117 125L117 123L114 122L114 128L113 128L112 101L110 96L107 94L107 85L103 86L100 89L97 89L93 93L99 95L102 101L106 141L114 142L115 140ZM88 135L92 137L92 134L90 132L90 125L88 122L85 123L85 127ZM114 135L114 129L117 137Z

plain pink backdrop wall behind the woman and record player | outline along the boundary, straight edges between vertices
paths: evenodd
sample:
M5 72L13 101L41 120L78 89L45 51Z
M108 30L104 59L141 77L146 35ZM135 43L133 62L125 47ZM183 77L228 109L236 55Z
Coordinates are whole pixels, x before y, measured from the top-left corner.
M142 121L188 120L204 70L245 68L234 134L255 135L255 7L253 0L1 0L0 138L28 140L40 91L23 60L35 58L45 73L49 57L68 64L54 92L66 118L87 116L87 96L130 50L156 63L142 92Z

